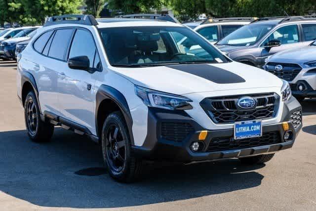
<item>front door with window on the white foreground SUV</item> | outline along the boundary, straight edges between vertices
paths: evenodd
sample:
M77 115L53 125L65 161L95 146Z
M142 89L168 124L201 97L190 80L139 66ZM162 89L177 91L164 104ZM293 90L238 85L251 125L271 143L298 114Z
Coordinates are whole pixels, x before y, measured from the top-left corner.
M87 56L90 68L101 70L100 57L90 31L77 28L69 46L68 58ZM65 63L64 78L58 81L59 104L62 116L80 126L94 131L96 73L70 69Z

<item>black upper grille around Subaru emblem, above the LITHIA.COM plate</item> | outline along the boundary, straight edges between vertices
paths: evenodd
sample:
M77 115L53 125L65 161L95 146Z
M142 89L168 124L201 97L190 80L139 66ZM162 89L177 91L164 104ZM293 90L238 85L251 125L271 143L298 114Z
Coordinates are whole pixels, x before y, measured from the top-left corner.
M200 105L214 123L229 124L238 121L268 119L276 116L279 97L275 93L248 95L256 101L253 109L237 107L237 101L243 96L206 98Z

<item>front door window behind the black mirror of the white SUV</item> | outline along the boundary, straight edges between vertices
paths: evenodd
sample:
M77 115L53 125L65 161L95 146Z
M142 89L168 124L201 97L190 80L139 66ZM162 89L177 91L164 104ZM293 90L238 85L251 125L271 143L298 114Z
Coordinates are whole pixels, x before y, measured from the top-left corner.
M90 67L93 67L96 46L90 32L77 30L73 43L70 48L69 58L76 56L87 56L90 61Z

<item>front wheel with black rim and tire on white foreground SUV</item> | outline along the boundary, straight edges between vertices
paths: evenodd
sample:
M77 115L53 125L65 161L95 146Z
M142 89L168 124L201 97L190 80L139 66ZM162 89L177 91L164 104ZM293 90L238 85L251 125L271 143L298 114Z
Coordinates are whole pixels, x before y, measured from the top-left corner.
M130 136L120 112L111 113L105 120L101 143L103 160L112 178L118 182L140 178L142 160L132 155Z

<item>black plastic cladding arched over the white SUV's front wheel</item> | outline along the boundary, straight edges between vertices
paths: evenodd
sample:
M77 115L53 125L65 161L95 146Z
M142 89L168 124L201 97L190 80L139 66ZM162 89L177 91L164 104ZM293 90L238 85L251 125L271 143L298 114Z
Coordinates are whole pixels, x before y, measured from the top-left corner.
M96 110L95 110L95 123L96 123L96 131L97 131L97 135L99 136L99 138L101 138L102 134L98 134L99 133L99 127L102 126L98 126L98 110L99 110L99 106L102 103L103 100L106 99L110 99L112 101L114 101L120 111L122 112L126 125L127 125L127 129L128 129L128 133L130 135L130 140L132 145L134 145L134 137L133 137L133 130L132 130L132 125L133 125L133 120L132 120L132 116L130 114L130 110L127 104L127 101L124 97L124 95L119 92L117 89L108 86L108 85L101 85L96 93Z

